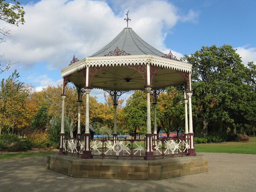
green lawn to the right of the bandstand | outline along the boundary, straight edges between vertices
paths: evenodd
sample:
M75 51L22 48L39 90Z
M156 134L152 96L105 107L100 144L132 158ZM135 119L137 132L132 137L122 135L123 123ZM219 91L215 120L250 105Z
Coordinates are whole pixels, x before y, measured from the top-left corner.
M249 141L195 144L196 152L242 153L256 155L256 137Z

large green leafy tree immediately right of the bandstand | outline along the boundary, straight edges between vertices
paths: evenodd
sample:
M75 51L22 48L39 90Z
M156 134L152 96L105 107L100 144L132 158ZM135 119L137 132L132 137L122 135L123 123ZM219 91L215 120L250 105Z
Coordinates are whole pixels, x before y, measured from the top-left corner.
M196 115L202 119L204 136L207 136L209 122L218 121L218 131L223 131L236 130L247 121L245 113L251 100L247 95L251 95L251 91L244 82L248 76L231 45L202 47L182 60L193 65L192 101Z

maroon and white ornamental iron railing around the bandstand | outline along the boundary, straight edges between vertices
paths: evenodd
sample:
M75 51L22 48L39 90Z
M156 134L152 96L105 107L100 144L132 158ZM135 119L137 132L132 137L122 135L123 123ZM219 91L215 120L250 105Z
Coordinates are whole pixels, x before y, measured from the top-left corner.
M159 138L152 143L155 157L174 156L188 153L189 138ZM145 155L146 140L113 138L91 138L90 150L92 156L104 157L143 157ZM64 138L63 148L66 154L83 156L84 138Z

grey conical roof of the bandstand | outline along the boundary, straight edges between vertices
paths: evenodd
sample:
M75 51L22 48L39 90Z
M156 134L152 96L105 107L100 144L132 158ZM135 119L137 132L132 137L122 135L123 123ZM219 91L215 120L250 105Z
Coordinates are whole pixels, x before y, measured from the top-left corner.
M118 47L131 55L155 55L162 57L164 53L152 47L140 38L132 28L124 28L110 43L92 54L90 57L103 57Z

